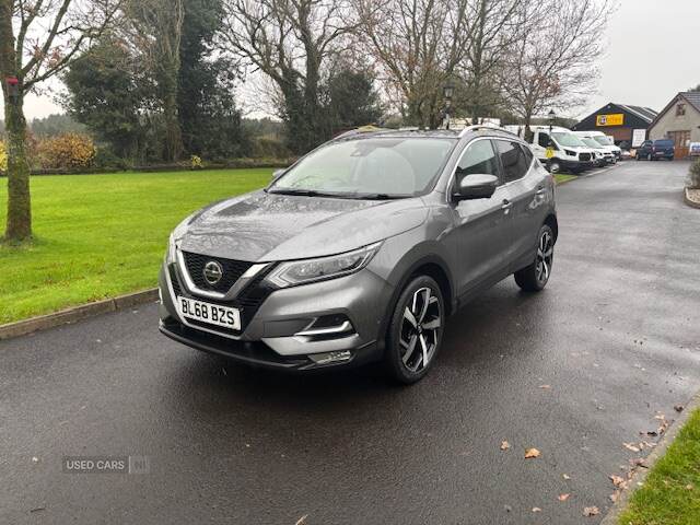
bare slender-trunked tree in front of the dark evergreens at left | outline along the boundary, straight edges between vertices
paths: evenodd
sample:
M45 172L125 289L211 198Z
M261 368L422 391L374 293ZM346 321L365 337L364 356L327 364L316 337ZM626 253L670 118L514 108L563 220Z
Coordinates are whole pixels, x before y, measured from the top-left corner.
M158 97L165 124L165 158L177 161L183 153L183 133L178 118L177 80L179 47L185 9L183 0L127 0L122 27L136 52L153 71Z

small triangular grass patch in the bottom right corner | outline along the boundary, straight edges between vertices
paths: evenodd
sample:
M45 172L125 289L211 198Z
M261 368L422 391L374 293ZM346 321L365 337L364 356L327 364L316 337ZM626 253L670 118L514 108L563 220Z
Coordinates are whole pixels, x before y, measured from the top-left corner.
M620 516L620 525L698 525L700 523L700 410L646 477Z

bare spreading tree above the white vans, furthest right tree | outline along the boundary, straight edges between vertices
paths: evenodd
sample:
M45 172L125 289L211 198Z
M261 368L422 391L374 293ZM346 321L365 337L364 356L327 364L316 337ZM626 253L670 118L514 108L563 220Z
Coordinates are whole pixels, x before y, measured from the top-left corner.
M532 5L528 31L506 55L501 85L525 124L547 109L581 105L598 79L609 0L544 0Z

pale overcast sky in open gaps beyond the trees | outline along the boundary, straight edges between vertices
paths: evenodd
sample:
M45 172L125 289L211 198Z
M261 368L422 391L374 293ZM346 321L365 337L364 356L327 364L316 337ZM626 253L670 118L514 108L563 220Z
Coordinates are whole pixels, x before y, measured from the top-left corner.
M603 36L600 81L585 116L608 102L661 110L679 91L700 84L700 0L621 0ZM28 118L62 113L51 95L26 100Z

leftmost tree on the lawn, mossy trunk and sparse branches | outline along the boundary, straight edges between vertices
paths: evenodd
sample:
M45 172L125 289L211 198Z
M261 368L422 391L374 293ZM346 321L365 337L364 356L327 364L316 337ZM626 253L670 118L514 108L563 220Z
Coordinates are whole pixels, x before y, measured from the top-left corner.
M0 81L8 138L5 240L32 236L24 96L66 69L112 22L118 0L0 0Z

